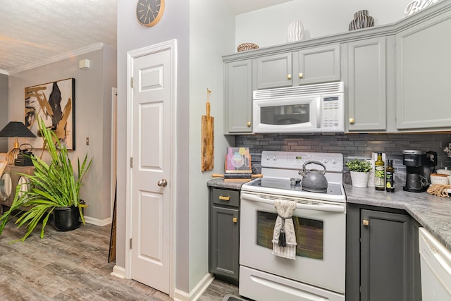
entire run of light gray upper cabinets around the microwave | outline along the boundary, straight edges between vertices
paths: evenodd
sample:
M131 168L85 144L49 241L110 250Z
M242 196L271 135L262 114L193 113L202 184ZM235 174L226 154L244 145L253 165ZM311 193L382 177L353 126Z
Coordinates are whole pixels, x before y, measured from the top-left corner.
M347 133L450 131L451 0L388 25L223 56L226 134L252 133L252 91L345 82Z

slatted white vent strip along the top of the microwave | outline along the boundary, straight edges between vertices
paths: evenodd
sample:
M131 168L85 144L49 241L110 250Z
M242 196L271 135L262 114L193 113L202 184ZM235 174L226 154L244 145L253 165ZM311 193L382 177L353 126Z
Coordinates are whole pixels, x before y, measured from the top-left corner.
M344 91L345 87L343 82L327 82L317 85L256 90L254 91L254 99L299 97L303 95L318 96L323 94L343 93Z

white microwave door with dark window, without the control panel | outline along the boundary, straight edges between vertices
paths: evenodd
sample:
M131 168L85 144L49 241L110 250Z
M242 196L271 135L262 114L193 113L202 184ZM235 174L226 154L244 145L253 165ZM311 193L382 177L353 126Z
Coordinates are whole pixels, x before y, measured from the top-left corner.
M254 99L254 133L319 133L321 97Z

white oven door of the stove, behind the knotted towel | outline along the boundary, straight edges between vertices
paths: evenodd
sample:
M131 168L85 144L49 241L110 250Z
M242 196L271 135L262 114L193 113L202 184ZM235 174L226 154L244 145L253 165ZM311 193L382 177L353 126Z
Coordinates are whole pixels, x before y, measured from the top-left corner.
M240 266L344 294L346 204L292 198L297 199L293 215L297 256L292 260L272 254L277 218L273 199L278 198L242 191ZM240 290L243 280L240 276Z

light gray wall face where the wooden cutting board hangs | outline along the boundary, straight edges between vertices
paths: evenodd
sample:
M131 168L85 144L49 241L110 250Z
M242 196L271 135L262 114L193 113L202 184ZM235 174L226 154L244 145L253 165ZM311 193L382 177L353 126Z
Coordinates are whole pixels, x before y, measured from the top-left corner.
M230 146L223 135L221 57L235 51L234 33L235 16L226 1L190 2L190 291L208 274L209 195L205 183L211 179L211 173L223 173L226 148ZM214 170L202 172L200 121L206 110L206 88L211 90L209 100L214 117Z

